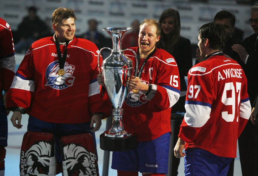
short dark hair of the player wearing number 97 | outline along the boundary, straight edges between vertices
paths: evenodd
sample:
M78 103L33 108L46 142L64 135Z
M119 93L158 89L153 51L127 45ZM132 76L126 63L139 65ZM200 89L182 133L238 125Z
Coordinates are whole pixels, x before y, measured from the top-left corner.
M198 30L200 40L208 39L212 50L223 50L226 41L226 31L223 25L211 22L202 25Z

